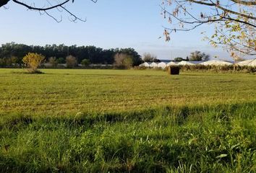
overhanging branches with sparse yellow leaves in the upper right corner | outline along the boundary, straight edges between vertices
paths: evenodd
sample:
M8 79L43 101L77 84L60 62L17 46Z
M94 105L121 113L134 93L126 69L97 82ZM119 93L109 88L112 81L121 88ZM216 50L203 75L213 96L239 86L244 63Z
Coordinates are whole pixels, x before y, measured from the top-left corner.
M163 0L161 8L163 17L171 24L164 30L166 41L171 32L210 24L215 25L215 32L205 35L205 40L211 45L223 45L234 58L256 55L255 0Z

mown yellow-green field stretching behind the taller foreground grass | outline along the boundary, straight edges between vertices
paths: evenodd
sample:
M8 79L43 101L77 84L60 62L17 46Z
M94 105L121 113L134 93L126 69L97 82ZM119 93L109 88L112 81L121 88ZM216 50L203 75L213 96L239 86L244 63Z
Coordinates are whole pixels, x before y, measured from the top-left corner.
M164 71L0 69L0 114L75 115L165 105L214 105L256 99L256 76ZM24 70L23 70L24 71Z

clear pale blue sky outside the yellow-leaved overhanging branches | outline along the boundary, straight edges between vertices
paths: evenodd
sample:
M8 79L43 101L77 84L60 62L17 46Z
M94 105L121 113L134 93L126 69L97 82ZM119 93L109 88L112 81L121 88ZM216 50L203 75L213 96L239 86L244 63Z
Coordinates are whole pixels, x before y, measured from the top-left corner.
M206 31L213 32L209 25L192 32L176 32L166 43L163 26L168 27L161 16L161 0L90 0L67 4L67 8L87 22L70 22L69 15L54 10L54 17L62 16L60 23L46 14L29 11L9 2L7 9L0 9L0 44L15 42L27 45L61 44L95 45L100 48L135 48L140 55L153 53L160 59L177 56L185 58L190 52L200 50L211 57L228 59L229 53L222 48L213 48L202 41Z

